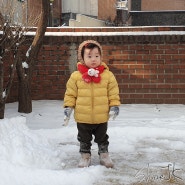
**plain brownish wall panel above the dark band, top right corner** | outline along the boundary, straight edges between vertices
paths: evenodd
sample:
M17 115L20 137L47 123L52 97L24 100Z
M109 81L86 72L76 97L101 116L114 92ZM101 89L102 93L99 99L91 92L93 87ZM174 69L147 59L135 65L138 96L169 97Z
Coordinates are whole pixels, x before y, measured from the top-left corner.
M185 10L184 0L142 0L142 11Z

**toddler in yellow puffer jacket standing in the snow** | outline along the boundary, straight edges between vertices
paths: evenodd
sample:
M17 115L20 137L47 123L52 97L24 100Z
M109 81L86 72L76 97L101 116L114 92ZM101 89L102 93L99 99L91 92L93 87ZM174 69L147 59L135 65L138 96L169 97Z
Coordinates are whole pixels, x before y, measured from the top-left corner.
M77 122L81 159L78 167L91 163L91 141L98 144L100 164L113 167L108 153L108 120L119 114L119 88L115 76L102 62L102 47L94 40L87 40L78 49L77 71L66 84L64 97L65 121L74 109Z

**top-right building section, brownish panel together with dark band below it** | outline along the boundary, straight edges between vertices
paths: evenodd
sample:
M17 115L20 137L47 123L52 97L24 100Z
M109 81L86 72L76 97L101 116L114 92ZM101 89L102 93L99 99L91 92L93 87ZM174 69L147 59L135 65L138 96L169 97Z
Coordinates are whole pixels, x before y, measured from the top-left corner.
M169 26L184 25L184 0L131 0L129 25Z

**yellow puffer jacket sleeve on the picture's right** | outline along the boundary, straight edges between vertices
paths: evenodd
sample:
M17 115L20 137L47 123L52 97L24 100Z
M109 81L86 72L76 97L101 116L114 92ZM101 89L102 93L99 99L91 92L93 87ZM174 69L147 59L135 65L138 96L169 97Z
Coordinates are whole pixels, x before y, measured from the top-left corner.
M108 98L110 107L120 105L119 87L116 78L112 72L110 72L110 80L108 85Z

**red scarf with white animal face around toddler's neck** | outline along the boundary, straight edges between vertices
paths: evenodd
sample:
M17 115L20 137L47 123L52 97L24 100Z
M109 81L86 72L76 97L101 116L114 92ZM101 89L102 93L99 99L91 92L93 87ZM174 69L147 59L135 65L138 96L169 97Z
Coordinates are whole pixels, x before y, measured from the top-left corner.
M101 80L100 74L104 71L104 66L98 66L95 68L88 68L83 64L78 64L78 70L82 73L82 78L85 82L99 83Z

